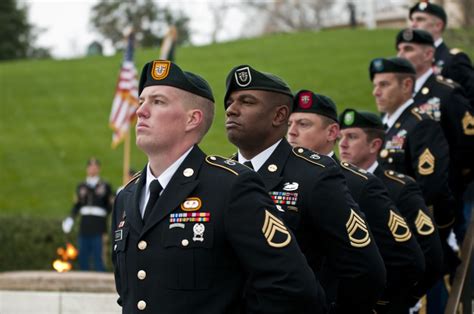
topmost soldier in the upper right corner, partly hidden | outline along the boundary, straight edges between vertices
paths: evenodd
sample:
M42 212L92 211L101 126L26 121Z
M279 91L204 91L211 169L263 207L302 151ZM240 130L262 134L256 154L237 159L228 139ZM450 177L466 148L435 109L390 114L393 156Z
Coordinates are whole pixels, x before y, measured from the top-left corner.
M457 48L450 49L443 41L448 17L444 9L428 1L420 1L410 8L411 27L428 31L434 39L435 74L461 84L474 107L474 69L469 56Z

